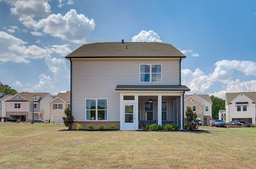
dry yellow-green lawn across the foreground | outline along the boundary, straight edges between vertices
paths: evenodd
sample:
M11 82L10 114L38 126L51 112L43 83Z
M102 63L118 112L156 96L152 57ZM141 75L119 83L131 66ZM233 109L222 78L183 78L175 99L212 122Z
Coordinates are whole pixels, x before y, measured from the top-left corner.
M255 168L256 128L64 131L0 123L0 168Z

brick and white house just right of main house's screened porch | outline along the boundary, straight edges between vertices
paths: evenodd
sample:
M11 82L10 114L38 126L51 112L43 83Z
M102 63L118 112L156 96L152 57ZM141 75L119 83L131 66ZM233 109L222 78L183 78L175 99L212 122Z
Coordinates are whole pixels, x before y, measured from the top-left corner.
M210 125L211 105L209 95L185 95L185 110L190 107L193 112L196 112L197 118L201 119L203 126Z

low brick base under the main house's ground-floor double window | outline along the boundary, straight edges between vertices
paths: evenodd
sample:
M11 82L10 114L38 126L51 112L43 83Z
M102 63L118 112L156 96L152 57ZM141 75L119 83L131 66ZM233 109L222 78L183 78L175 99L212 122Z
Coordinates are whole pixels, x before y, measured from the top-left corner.
M96 121L96 122L91 122L91 121L88 121L88 122L86 122L86 121L84 121L84 122L73 122L72 123L72 128L76 129L76 125L77 124L81 124L83 129L88 129L87 127L89 125L92 125L94 130L97 130L100 125L103 125L106 129L109 128L109 125L114 125L115 129L118 129L118 130L120 129L120 122L110 122L110 121L102 121L102 122L100 122L100 121Z

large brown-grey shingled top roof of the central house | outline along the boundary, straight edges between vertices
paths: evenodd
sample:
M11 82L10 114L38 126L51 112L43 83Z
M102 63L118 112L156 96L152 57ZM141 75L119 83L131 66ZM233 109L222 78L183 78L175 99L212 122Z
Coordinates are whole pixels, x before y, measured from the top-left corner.
M71 52L72 57L186 57L168 43L159 42L98 42L83 45Z

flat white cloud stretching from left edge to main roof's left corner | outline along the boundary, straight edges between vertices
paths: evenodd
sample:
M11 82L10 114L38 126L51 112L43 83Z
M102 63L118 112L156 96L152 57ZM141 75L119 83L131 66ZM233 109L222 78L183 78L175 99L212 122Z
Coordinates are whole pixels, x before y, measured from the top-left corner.
M0 63L7 61L29 63L29 59L43 59L52 53L66 55L71 52L68 45L53 45L46 48L28 46L27 42L6 32L0 32L0 51Z

